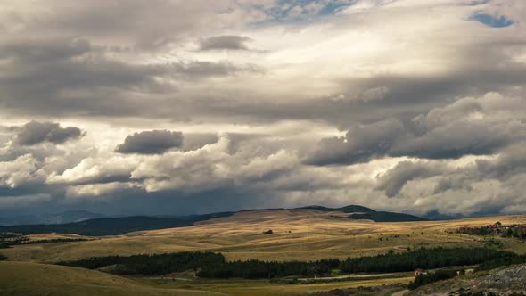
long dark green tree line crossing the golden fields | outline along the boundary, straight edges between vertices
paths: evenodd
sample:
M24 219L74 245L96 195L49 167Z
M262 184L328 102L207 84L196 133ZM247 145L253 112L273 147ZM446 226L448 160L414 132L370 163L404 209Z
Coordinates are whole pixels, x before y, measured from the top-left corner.
M348 258L322 259L317 261L226 261L222 254L214 252L180 252L155 255L108 256L78 261L59 262L60 265L97 269L124 275L167 275L174 272L194 270L203 278L245 279L276 278L285 276L314 276L329 274L332 269L350 273L390 273L412 271L415 268L440 268L468 266L493 262L494 265L522 260L508 251L486 248L433 248L407 252ZM526 262L526 260L525 260Z

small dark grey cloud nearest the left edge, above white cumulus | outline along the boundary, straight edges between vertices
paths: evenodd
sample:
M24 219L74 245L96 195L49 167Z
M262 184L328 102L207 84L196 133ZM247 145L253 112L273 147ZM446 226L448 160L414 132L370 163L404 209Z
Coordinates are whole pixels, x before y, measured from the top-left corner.
M20 127L16 134L16 142L21 145L44 142L62 144L80 136L83 136L83 132L78 127L61 127L58 123L31 121Z

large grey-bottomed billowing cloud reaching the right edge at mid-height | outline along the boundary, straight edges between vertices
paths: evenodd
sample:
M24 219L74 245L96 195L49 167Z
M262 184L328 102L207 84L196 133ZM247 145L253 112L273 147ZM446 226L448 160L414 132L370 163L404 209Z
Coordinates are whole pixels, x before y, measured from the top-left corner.
M351 127L346 136L325 138L308 164L354 164L385 156L458 159L493 154L526 139L518 110L522 100L488 94L459 99L402 123L387 119ZM521 107L522 108L522 107Z

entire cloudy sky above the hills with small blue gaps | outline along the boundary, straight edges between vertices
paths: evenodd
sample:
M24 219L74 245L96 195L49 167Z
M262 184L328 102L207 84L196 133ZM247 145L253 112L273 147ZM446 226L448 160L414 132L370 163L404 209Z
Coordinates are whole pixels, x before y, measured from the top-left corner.
M0 0L0 215L526 212L523 0Z

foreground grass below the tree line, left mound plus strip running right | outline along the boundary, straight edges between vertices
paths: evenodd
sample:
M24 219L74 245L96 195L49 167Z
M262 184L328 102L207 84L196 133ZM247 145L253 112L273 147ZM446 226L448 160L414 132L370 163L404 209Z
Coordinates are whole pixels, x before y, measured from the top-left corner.
M279 284L267 280L176 280L122 277L75 267L0 262L0 295L278 295L296 296L339 288L407 284L412 277L320 284Z

